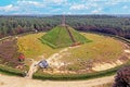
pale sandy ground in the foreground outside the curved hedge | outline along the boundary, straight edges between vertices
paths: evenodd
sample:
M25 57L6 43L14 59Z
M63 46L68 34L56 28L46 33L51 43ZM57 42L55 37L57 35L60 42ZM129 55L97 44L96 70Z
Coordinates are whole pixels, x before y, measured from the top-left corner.
M113 80L114 76L107 76L89 80L52 82L28 79L24 77L6 76L0 74L0 87L92 87L112 83Z

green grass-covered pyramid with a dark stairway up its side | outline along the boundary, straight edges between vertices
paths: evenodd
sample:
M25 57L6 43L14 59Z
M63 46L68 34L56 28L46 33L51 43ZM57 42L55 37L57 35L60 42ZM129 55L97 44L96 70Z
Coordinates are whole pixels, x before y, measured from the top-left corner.
M52 48L68 47L75 44L84 44L90 41L68 25L58 25L54 27L43 35L40 40Z

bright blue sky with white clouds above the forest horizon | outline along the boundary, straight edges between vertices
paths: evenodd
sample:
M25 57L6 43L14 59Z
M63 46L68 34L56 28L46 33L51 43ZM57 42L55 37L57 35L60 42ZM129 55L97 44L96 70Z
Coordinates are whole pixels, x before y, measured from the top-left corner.
M0 0L0 14L130 14L130 0Z

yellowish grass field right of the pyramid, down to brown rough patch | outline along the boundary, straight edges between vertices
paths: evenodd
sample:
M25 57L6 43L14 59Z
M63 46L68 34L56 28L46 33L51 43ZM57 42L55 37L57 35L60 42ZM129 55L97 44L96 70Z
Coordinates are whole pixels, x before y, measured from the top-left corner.
M92 42L81 45L78 48L70 49L69 57L62 59L74 64L69 65L68 70L84 70L92 66L93 63L110 62L119 59L123 53L125 46L119 40L112 37L106 37L95 34L82 33Z

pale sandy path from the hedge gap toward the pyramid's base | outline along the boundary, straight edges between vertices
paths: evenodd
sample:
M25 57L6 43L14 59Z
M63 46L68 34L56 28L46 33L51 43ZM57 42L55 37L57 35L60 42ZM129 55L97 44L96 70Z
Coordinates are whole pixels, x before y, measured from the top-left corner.
M67 51L68 51L69 49L72 49L72 48L73 48L73 47L65 48L65 49L61 50L60 52L54 53L54 54L52 54L50 58L48 58L47 61L48 61L48 63L49 63L49 66L51 66L52 69L58 69L58 67L65 65L64 62L61 62L61 61L60 61L60 59L61 59L64 54L67 54ZM27 75L25 76L25 78L31 78L31 77L32 77L32 74L38 71L38 65L37 65L37 64L38 64L40 61L42 61L43 58L44 58L44 57L42 55L41 60L39 60L39 61L35 61L34 59L31 59L31 65L29 66L29 71L28 71Z

